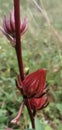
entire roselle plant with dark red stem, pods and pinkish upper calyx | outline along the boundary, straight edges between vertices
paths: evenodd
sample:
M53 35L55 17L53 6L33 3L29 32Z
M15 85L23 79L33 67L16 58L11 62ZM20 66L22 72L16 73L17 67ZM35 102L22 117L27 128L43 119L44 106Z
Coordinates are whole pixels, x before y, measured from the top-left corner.
M36 112L48 105L48 87L46 85L45 68L41 68L26 76L24 75L21 38L26 32L27 23L28 21L26 18L24 19L24 22L21 22L20 0L14 0L14 8L10 13L10 19L8 20L6 16L4 16L3 27L0 28L0 30L16 50L19 67L19 75L18 79L16 80L16 87L20 90L23 96L23 101L21 103L18 115L11 121L11 123L18 123L25 105L31 119L32 128L35 129Z

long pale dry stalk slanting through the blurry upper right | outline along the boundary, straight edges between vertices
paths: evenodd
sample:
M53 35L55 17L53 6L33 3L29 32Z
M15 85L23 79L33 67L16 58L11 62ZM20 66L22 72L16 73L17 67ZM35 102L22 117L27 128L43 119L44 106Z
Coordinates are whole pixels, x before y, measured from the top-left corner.
M60 52L60 50L61 50L61 45L62 45L62 38L59 36L57 30L56 30L56 29L53 27L53 25L51 24L50 19L49 19L48 14L47 14L47 11L46 11L46 9L44 8L44 4L43 4L42 0L41 0L41 6L42 6L42 8L41 8L41 6L37 3L36 0L32 0L32 1L33 1L33 3L35 4L35 6L36 6L36 8L38 9L38 11L41 13L41 15L43 15L43 17L45 18L45 20L46 20L46 22L47 22L47 24L48 24L48 27L49 27L49 29L50 29L50 31L51 31L53 37L56 37L57 40L58 40L58 42L60 43L60 44L57 43L57 49L58 49L58 53L59 53L59 56L60 56L60 62L61 62L61 64L62 64L62 57L61 57L61 52Z

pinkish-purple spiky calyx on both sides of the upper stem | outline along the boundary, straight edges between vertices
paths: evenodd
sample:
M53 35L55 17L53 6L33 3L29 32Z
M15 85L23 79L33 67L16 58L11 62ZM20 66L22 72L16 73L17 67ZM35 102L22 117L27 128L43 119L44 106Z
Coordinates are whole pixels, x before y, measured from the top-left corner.
M20 23L20 36L26 32L27 23L28 23L27 18L24 19L23 23ZM2 33L7 37L7 39L14 46L16 42L14 9L10 13L10 19L7 19L6 16L4 16L3 28L0 28L0 31L2 31Z

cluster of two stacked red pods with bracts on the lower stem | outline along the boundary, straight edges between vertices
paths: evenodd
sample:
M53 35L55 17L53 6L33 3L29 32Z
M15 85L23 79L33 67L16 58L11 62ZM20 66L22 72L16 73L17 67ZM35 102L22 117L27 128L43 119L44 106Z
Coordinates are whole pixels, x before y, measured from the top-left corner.
M46 86L46 69L39 69L16 82L17 88L22 91L24 98L29 100L31 109L39 110L48 104Z

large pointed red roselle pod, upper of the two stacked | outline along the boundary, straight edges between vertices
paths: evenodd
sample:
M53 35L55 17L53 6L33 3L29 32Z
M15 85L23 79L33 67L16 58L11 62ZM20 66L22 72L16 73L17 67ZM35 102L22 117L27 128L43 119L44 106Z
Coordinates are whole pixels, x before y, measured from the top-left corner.
M42 95L46 82L46 70L44 68L29 74L23 81L23 93L26 97L39 97Z

